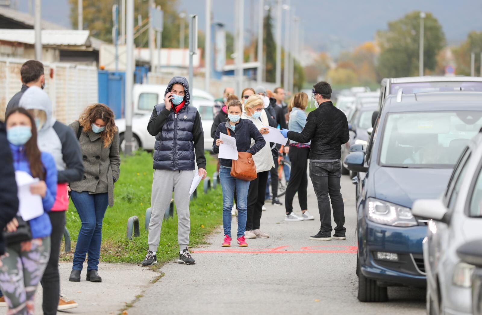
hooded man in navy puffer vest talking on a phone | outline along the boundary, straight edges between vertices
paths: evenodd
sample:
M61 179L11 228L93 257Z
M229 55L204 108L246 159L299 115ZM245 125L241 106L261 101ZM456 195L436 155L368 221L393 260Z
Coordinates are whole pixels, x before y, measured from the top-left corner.
M174 77L164 93L164 103L156 105L147 124L147 131L156 136L154 147L154 178L152 181L149 249L143 265L157 263L156 251L161 237L164 213L169 207L174 190L177 210L177 241L179 263L194 264L187 250L189 233L189 189L194 178L194 160L198 173L206 177L204 136L201 116L189 105L189 85L184 77ZM196 153L196 158L194 158Z

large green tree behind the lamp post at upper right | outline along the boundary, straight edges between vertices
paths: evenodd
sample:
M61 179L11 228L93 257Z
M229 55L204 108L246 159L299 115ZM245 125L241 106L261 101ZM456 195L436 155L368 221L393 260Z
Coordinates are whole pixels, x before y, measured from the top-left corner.
M380 58L378 72L382 77L408 77L418 74L420 12L406 14L388 23L388 30L378 31ZM426 13L424 21L424 69L437 66L437 54L445 46L445 35L439 21Z

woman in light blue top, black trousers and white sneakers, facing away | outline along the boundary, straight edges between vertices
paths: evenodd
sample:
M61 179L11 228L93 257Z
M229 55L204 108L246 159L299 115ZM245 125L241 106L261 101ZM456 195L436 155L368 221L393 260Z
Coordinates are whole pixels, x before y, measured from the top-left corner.
M288 110L290 121L288 123L289 130L301 132L306 124L305 109L308 106L308 95L304 92L296 93L291 99ZM307 204L307 187L308 187L308 155L309 142L306 144L298 143L290 140L290 150L288 156L291 160L291 176L286 187L286 196L284 199L286 215L284 221L303 221L314 220L315 218L308 212ZM293 198L298 193L298 201L302 214L297 215L293 212Z

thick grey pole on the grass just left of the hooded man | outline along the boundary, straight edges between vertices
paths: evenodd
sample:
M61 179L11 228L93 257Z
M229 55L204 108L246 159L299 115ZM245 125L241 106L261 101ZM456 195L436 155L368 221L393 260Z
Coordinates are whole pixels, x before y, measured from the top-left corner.
M134 0L126 5L126 63L125 63L125 147L124 154L132 152L132 107L134 80Z

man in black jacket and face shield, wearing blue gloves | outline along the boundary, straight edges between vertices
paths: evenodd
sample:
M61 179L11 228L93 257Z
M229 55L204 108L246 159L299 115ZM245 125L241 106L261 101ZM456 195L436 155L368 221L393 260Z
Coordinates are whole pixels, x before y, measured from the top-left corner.
M330 84L321 81L314 86L317 109L308 114L302 132L283 129L283 136L299 143L311 140L309 176L318 199L321 228L313 240L346 239L345 207L341 196L341 145L348 142L348 121L345 114L331 102ZM330 199L335 219L335 235L331 236Z

